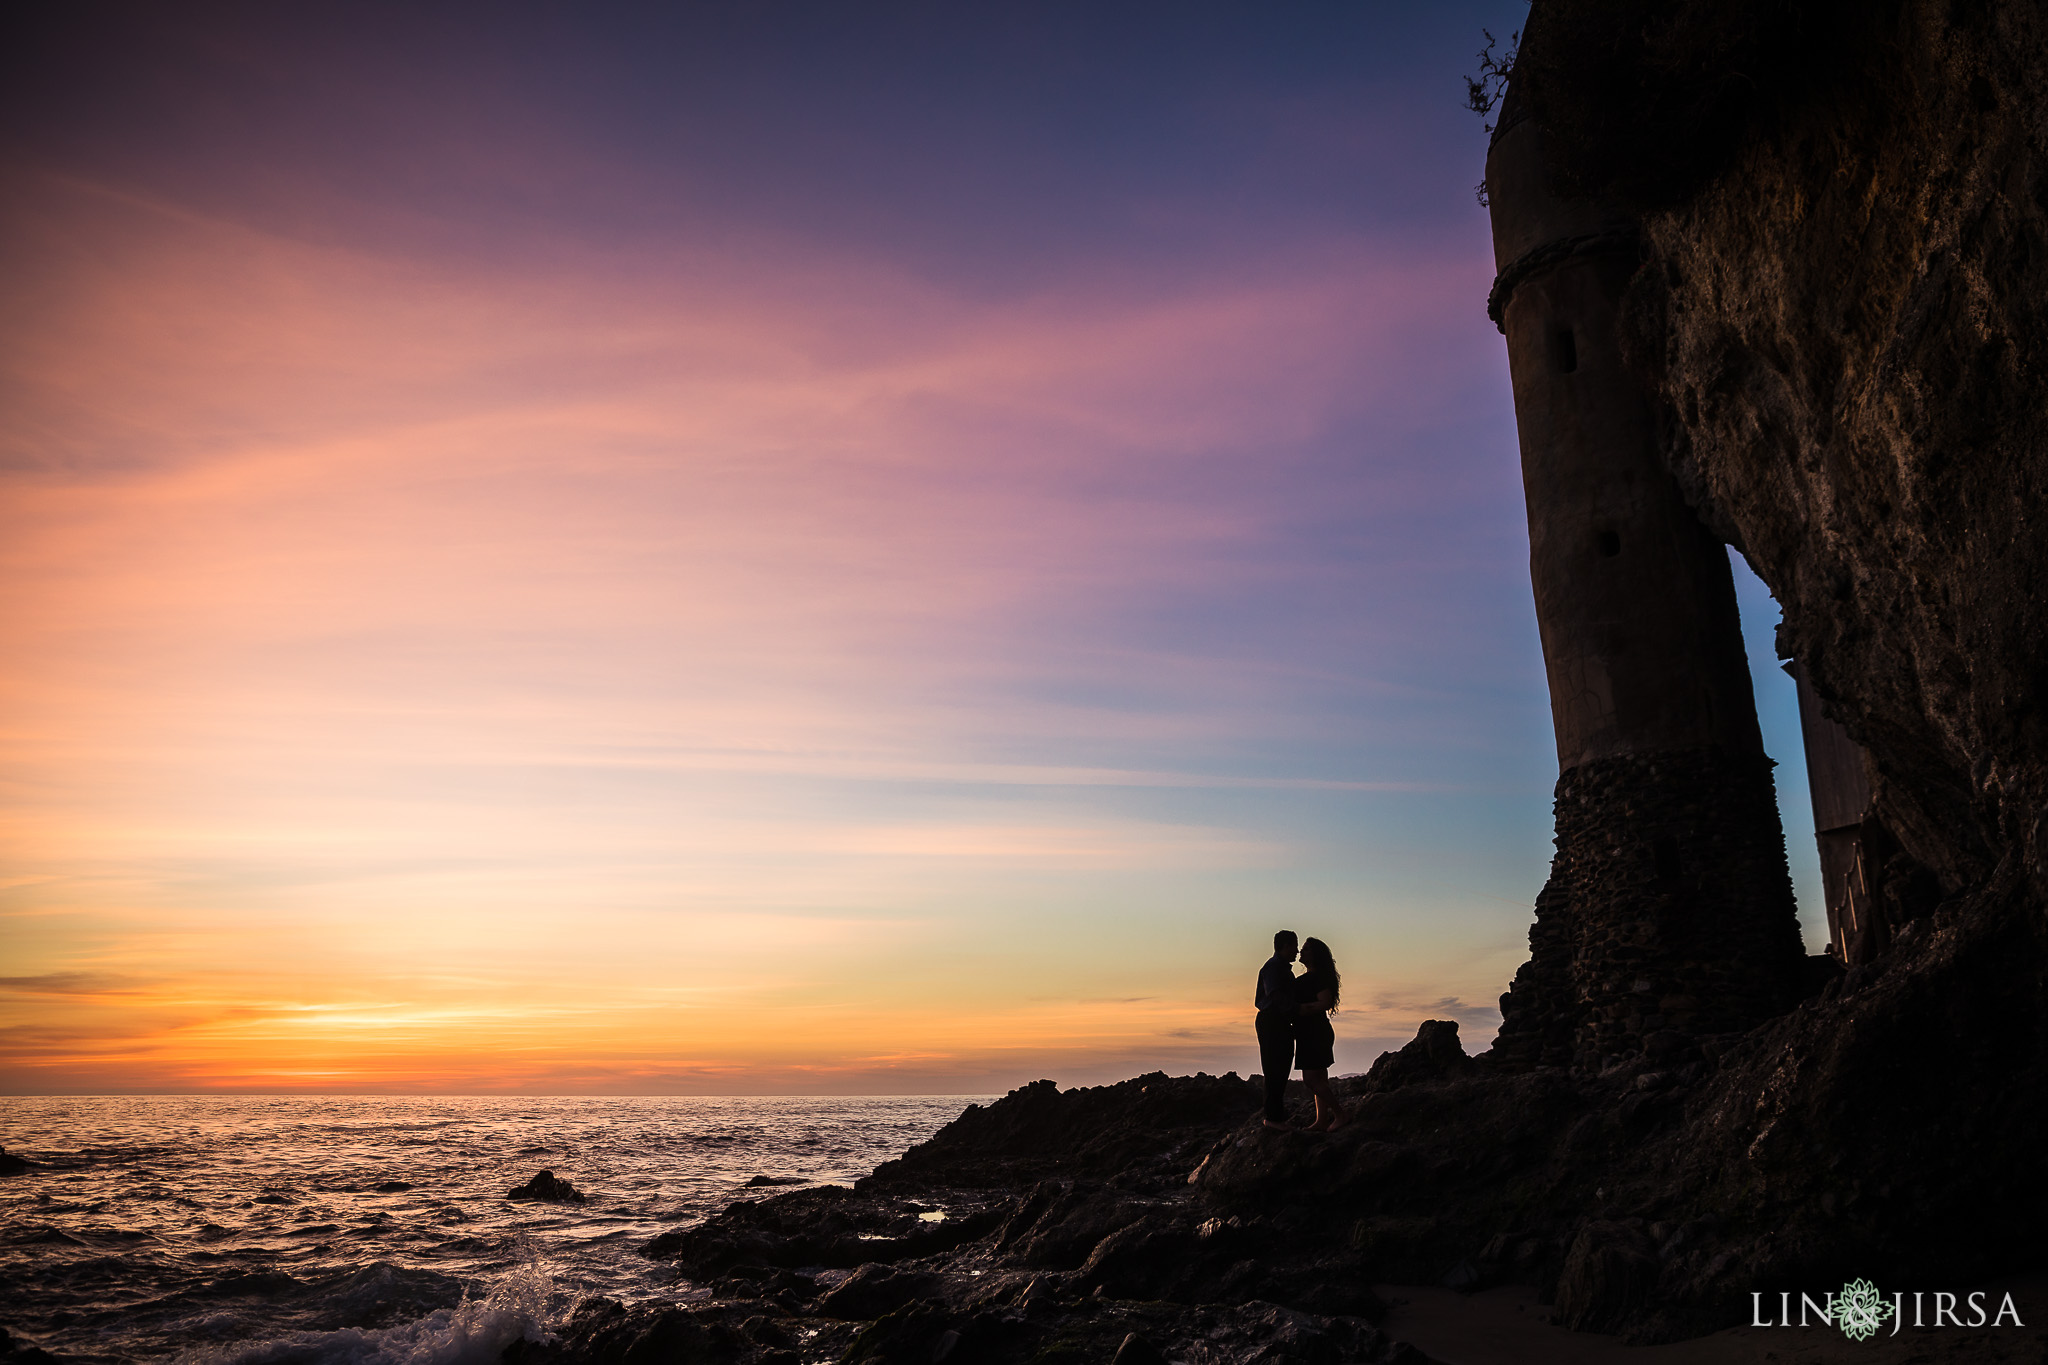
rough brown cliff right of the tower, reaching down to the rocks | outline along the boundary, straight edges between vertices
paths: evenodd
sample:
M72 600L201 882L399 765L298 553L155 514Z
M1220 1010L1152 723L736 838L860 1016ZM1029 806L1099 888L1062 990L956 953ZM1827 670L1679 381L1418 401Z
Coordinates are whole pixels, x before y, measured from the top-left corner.
M2048 1214L2048 14L1542 0L1516 82L1552 184L1638 215L1663 458L1896 841L1890 950L1616 1185L1743 1230L1755 1287L2011 1265Z

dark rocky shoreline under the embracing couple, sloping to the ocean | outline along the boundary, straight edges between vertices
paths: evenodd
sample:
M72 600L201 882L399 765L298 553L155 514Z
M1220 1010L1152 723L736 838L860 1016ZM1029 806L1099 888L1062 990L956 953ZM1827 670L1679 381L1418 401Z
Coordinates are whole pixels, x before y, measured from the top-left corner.
M1698 1048L1604 1076L1505 1072L1432 1021L1339 1083L1354 1119L1333 1134L1268 1132L1235 1072L1038 1081L852 1189L655 1238L645 1254L692 1285L678 1302L590 1300L506 1359L1427 1361L1378 1330L1374 1281L1518 1281L1567 1326L1712 1330L1747 1304L1745 1230L1636 1214L1657 1201L1612 1173L1714 1072ZM1726 1287L1729 1310L1653 1310L1659 1279Z

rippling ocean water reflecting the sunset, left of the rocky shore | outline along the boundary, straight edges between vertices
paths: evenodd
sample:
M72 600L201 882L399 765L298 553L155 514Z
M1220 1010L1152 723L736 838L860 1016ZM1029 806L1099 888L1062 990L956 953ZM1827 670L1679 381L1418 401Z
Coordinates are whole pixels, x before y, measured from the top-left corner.
M78 1361L496 1365L754 1177L852 1183L961 1097L0 1097L0 1326ZM553 1171L586 1203L510 1201Z

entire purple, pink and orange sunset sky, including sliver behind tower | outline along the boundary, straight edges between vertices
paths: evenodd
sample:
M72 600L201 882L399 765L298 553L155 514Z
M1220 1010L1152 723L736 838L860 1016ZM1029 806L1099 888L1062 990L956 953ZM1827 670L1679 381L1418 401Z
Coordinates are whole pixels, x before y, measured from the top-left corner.
M1491 4L59 6L0 90L0 1089L1470 1050L1556 778ZM1806 937L1776 610L1743 579Z

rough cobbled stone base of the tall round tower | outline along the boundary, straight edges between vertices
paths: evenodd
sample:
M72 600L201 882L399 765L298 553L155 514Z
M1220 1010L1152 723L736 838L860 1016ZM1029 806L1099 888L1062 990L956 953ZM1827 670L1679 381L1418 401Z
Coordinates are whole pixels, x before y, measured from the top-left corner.
M1802 968L1769 759L1593 759L1556 782L1556 860L1493 1060L1599 1068L1747 1031L1798 999Z

